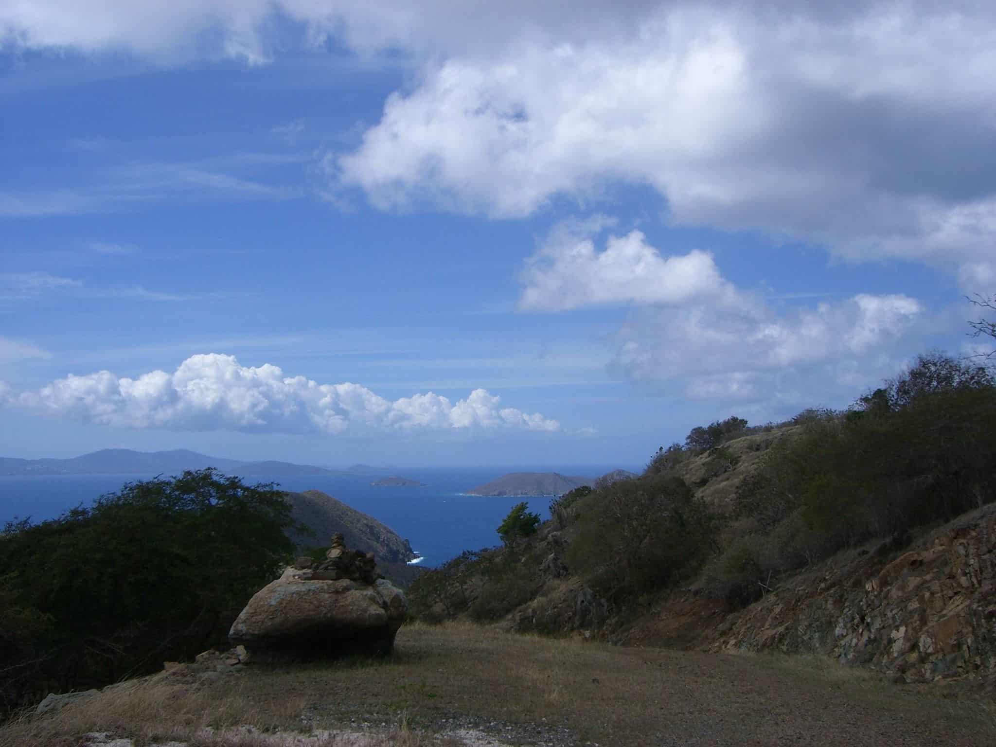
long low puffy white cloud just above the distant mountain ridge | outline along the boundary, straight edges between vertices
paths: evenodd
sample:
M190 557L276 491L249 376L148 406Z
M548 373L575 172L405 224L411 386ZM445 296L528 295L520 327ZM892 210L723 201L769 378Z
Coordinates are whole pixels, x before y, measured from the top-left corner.
M191 356L173 373L137 378L102 371L53 381L16 401L106 425L172 430L341 433L347 428L520 428L559 431L539 413L500 407L475 389L451 401L427 392L389 401L356 383L320 384L276 366L244 367L233 356Z

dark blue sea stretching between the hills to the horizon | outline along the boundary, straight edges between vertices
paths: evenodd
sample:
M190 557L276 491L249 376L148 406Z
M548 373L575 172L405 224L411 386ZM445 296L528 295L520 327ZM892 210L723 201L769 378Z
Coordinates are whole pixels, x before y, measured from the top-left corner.
M571 475L604 474L620 465L554 467ZM622 467L633 469L634 467ZM246 484L276 482L285 490L321 490L358 511L373 516L411 542L422 556L422 565L438 566L464 550L479 550L499 543L496 529L516 503L525 500L531 511L549 518L550 497L493 498L460 495L506 472L537 471L528 468L400 469L398 474L425 483L426 487L373 487L378 476L305 475L246 478ZM58 517L79 504L119 490L125 482L154 475L56 475L0 476L0 527L10 519L31 517L39 522Z

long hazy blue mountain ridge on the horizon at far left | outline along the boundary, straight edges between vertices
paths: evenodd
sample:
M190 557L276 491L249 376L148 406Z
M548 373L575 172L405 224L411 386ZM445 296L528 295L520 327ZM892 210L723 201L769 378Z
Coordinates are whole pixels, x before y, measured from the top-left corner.
M216 467L245 475L344 475L342 470L281 461L242 461L207 456L188 449L132 451L101 449L72 459L0 457L0 475L173 474L185 469Z

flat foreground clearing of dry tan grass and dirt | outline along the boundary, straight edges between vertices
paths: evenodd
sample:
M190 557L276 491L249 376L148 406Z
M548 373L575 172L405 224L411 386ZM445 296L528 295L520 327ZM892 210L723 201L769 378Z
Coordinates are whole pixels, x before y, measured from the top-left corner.
M263 733L220 741L245 725ZM401 628L395 654L379 661L248 667L199 684L141 680L10 724L0 746L76 745L81 734L108 731L138 745L284 747L288 732L317 729L370 730L373 744L408 747L445 744L436 736L473 744L474 732L502 744L996 744L991 704L964 690L900 687L812 657L622 648L449 624ZM276 732L285 741L265 741Z

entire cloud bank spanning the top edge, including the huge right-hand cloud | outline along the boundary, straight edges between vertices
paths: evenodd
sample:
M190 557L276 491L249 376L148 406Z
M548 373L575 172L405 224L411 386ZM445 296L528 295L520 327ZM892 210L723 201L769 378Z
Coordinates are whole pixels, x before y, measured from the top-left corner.
M996 278L992 3L13 0L0 39L263 62L288 21L412 68L326 159L379 207L520 217L640 184L675 223Z

